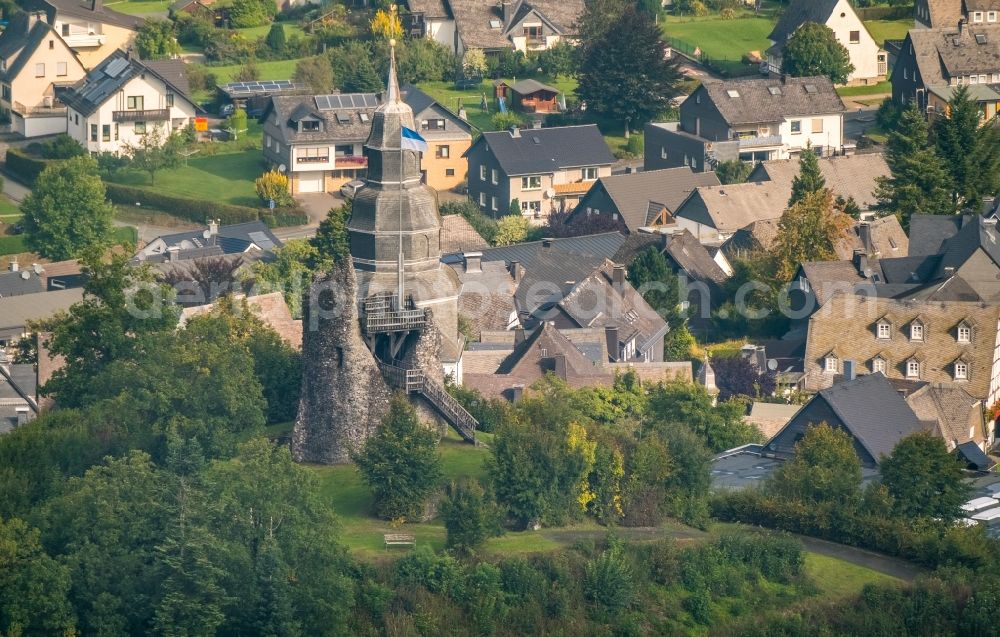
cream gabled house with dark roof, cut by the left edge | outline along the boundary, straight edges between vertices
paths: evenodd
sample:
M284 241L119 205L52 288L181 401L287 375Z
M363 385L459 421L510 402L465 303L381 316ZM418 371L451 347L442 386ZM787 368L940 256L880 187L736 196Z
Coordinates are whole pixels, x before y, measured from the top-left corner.
M66 107L56 90L86 72L43 16L19 13L0 35L0 113L24 137L66 132Z

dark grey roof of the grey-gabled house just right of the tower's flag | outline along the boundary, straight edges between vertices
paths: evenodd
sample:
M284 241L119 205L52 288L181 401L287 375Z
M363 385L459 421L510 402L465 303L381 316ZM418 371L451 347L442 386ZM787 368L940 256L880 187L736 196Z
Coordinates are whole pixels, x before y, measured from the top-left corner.
M509 131L487 132L473 147L479 144L487 144L508 177L615 162L596 124L522 129L517 137Z

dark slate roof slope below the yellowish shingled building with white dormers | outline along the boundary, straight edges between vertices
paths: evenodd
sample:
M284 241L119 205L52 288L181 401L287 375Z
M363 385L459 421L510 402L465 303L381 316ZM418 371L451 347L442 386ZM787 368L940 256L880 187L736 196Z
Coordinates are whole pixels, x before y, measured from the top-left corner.
M840 416L854 437L879 461L901 439L926 429L903 397L879 373L834 385L820 396Z

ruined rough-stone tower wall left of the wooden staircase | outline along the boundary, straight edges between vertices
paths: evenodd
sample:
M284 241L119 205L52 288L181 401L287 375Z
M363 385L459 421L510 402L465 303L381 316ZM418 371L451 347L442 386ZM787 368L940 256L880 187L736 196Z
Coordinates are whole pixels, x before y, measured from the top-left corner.
M299 462L349 462L389 410L391 391L361 336L354 266L344 259L303 304L302 398L292 432Z

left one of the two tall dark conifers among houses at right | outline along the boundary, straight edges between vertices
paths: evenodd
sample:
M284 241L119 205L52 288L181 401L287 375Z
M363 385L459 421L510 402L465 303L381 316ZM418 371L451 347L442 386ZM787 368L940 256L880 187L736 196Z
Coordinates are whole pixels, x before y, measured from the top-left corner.
M899 116L899 126L889 134L885 161L890 177L879 177L876 209L899 217L908 228L915 213L947 215L955 212L951 179L944 161L928 141L927 121L911 103Z

